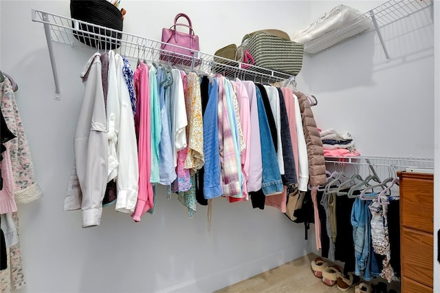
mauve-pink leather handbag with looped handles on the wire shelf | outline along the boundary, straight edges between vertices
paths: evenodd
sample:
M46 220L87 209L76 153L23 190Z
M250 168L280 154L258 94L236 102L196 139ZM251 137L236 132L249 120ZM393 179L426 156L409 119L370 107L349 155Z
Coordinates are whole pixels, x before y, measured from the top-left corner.
M179 17L184 17L188 21L188 25L184 23L177 23ZM189 28L189 34L185 32L177 32L177 26L184 26ZM162 29L162 45L160 46L160 60L185 66L199 65L200 60L195 58L195 63L192 64L195 52L199 51L199 36L194 34L192 30L192 23L188 15L179 13L174 19L174 25L170 28ZM198 56L196 56L198 57Z

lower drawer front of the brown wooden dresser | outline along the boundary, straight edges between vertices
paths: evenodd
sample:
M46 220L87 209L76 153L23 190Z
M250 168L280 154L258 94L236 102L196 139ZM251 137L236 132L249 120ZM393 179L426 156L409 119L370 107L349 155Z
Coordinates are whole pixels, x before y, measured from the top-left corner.
M402 276L433 287L434 237L425 232L402 228L401 235ZM402 291L403 292L403 291ZM406 291L405 291L406 292Z

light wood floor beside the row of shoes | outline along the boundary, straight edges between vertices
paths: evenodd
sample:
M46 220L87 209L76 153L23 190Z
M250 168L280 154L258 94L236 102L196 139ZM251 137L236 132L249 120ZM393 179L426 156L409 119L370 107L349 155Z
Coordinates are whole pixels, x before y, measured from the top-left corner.
M308 254L305 257L295 259L289 263L274 268L250 279L230 285L214 293L229 292L295 292L295 293L329 293L340 292L336 285L329 287L316 278L310 269L310 261L318 257L316 254ZM347 292L355 292L351 288Z

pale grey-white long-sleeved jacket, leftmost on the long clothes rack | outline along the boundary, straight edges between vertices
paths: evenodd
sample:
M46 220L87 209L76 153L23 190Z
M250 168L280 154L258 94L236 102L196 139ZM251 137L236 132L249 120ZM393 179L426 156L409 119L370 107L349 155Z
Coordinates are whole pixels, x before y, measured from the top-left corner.
M85 91L74 135L75 162L64 210L83 210L83 228L98 226L107 186L108 145L102 64L95 53L81 74Z

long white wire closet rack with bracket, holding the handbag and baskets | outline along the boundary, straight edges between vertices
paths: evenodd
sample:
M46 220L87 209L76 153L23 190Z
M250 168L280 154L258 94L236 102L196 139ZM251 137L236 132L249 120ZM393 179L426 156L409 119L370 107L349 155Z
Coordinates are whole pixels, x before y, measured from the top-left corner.
M112 30L100 25L94 25L85 21L51 14L42 10L32 9L32 21L43 23L47 47L54 74L55 98L60 99L61 89L58 83L58 74L54 58L52 43L71 45L88 50L110 50L115 49L121 55L129 58L142 58L151 62L164 65L174 65L177 67L188 68L190 71L208 72L223 74L227 77L238 77L243 80L255 80L261 83L274 83L282 80L295 80L295 76L277 72L272 69L265 69L254 65L233 61L227 58L214 56L199 51L195 51L193 56L179 54L179 50L185 49L177 45L173 47L173 52L161 49L164 44L160 41L148 39L143 36ZM87 46L78 40L95 47ZM162 55L162 60L161 60ZM165 57L164 57L165 56Z

